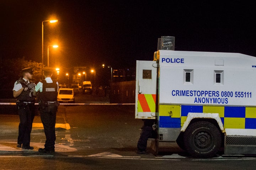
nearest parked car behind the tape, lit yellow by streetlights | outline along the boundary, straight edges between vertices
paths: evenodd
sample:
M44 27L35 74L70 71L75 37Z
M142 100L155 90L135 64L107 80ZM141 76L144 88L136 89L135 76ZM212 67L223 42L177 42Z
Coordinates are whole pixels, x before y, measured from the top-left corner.
M59 89L58 92L58 97L57 97L59 102L62 103L75 103L75 97L74 97L74 91L73 89Z

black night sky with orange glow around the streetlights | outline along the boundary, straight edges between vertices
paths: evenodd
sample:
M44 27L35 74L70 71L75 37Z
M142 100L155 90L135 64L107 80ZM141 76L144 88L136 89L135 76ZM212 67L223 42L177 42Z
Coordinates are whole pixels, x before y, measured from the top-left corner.
M17 2L18 1L18 2ZM25 57L52 66L135 67L153 60L160 36L175 50L238 52L256 56L256 6L246 1L1 0L0 57ZM50 65L51 65L50 64Z

